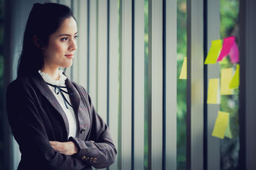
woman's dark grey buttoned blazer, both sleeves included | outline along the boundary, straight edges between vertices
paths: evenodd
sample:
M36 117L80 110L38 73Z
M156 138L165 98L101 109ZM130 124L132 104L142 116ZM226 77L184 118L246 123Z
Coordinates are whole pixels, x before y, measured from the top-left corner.
M39 73L18 78L6 91L6 109L13 136L19 144L18 169L92 169L115 162L116 148L108 126L96 113L86 90L66 80L73 90L70 101L77 115L78 137L68 139L68 120L54 94ZM63 155L49 141L74 141L79 152Z

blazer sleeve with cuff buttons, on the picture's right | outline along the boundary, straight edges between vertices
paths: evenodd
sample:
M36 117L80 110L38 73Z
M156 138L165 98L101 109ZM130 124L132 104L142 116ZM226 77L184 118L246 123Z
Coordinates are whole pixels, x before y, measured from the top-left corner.
M83 90L81 94L84 94L84 96L81 96L81 98L83 97L84 103L89 105L91 132L87 141L74 137L70 137L69 140L74 141L79 148L79 152L76 154L78 159L90 162L96 168L108 167L116 159L116 148L111 139L108 125L95 111L86 90L83 87L79 87L79 90Z

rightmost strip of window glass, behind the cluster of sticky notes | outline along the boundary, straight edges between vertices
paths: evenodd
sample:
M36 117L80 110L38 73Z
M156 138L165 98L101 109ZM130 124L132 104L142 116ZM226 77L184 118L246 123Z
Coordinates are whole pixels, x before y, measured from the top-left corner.
M220 0L220 36L221 39L235 36L239 44L239 0ZM221 69L232 68L233 74L237 64L230 62L230 58L221 62ZM238 166L239 155L239 89L234 89L234 94L221 95L220 110L230 113L230 132L232 138L225 137L220 140L220 169L231 170Z

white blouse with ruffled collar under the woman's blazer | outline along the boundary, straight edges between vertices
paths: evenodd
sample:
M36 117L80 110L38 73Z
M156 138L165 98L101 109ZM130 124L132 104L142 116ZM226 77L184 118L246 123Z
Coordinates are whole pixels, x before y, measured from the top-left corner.
M40 70L38 70L38 73L40 73L40 75L42 76L44 81L46 81L47 83L50 83L52 85L58 85L58 86L66 87L65 80L67 79L67 77L64 74L62 74L63 71L61 69L59 69L59 75L60 75L60 79L59 80L52 80L51 76L49 76L49 74L44 73L44 72L42 72ZM68 138L70 136L76 137L77 136L77 120L76 120L76 115L74 113L73 108L70 107L67 104L67 106L68 106L68 109L67 109L66 106L65 106L65 103L63 101L63 98L61 97L61 94L60 93L56 94L54 92L54 87L52 87L51 85L48 85L48 87L51 89L52 93L54 94L54 96L56 97L58 102L60 103L61 108L66 113L66 116L67 116L67 119L68 119L68 127L69 127ZM61 89L61 90L65 90L65 92L67 92L67 89ZM68 96L68 94L63 92L63 95L67 99L68 103L71 104L70 97Z

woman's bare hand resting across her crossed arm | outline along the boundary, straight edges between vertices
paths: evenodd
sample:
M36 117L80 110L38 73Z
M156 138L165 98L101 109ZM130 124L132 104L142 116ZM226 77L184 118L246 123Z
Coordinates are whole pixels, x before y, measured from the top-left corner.
M49 141L52 148L57 152L63 153L65 155L73 155L77 153L77 146L74 142L58 142L58 141Z

